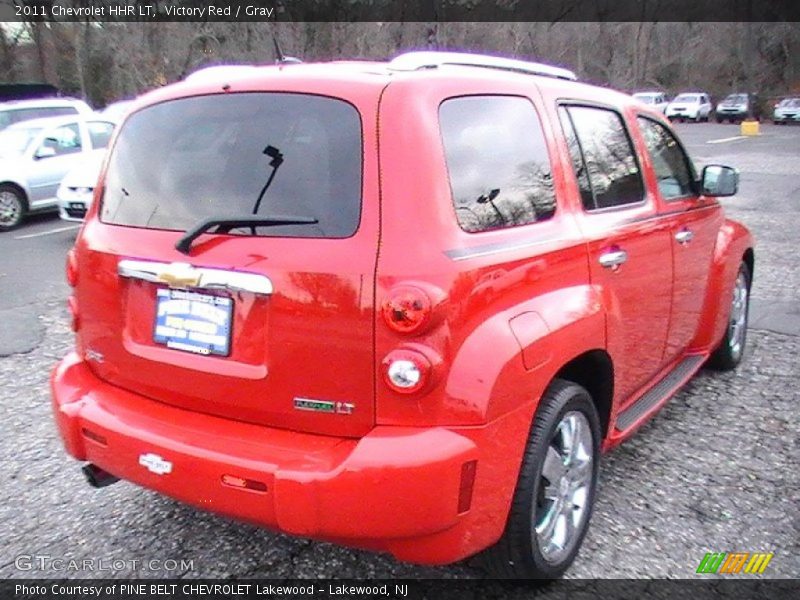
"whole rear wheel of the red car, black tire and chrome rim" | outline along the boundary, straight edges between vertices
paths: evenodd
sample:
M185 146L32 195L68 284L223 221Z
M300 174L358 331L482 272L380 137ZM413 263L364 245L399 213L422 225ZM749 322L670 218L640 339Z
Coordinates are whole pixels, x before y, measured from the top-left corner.
M573 428L571 423L579 426ZM562 446L563 454L558 451L559 443L565 439L562 432L566 429L572 429L575 438L583 440L580 453L577 450L569 452L566 445ZM600 438L600 420L589 393L570 381L555 380L545 392L533 420L503 537L482 555L483 564L492 576L555 579L572 564L592 515L600 463ZM591 446L591 463L584 457L588 455L587 446ZM582 457L575 458L579 454ZM545 467L548 456L551 457L550 465L558 465L555 471ZM561 475L558 484L554 477L547 478L546 470ZM557 497L546 497L548 493ZM561 521L562 517L564 521ZM567 523L570 518L573 519L571 536ZM563 527L560 530L569 539L565 539L560 547L546 544L543 552L537 524L542 528L543 537L547 537L548 523L553 523L550 535L556 535L561 523Z

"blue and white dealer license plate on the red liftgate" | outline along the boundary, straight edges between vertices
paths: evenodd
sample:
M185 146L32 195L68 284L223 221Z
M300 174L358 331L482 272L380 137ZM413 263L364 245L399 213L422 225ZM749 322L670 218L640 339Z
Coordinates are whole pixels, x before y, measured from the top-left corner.
M158 288L153 342L201 356L230 356L233 299Z

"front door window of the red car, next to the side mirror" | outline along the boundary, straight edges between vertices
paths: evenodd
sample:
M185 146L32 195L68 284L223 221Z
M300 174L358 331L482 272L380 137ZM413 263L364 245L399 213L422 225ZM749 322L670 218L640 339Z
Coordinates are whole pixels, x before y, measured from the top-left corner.
M650 119L640 118L639 127L653 162L661 195L669 200L694 194L691 163L675 136Z

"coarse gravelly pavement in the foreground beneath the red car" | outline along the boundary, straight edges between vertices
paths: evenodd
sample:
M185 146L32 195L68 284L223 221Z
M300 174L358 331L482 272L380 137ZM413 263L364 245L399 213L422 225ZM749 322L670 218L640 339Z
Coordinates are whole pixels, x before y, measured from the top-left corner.
M0 576L480 577L468 564L426 568L298 540L197 511L127 482L89 488L58 441L47 367L68 350L59 306L28 354L0 360L3 488ZM800 338L751 331L734 373L701 371L633 439L605 456L589 535L568 577L687 577L708 551L771 551L767 574L800 573L796 410ZM20 555L156 559L160 570L58 572ZM193 569L164 570L166 561ZM36 566L36 565L34 565ZM171 563L170 563L171 566Z

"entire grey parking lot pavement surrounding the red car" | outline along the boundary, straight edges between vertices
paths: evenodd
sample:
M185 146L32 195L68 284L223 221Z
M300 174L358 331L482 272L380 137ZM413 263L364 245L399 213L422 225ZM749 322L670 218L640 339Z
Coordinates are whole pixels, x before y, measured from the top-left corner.
M567 577L693 577L713 551L773 552L762 577L798 577L800 127L766 124L754 138L733 125L677 129L699 165L741 171L739 195L723 202L757 237L749 348L737 371L701 371L604 457ZM0 577L482 576L472 561L420 567L275 534L127 482L89 488L57 438L47 384L72 345L63 265L76 229L64 227L38 217L0 234Z

